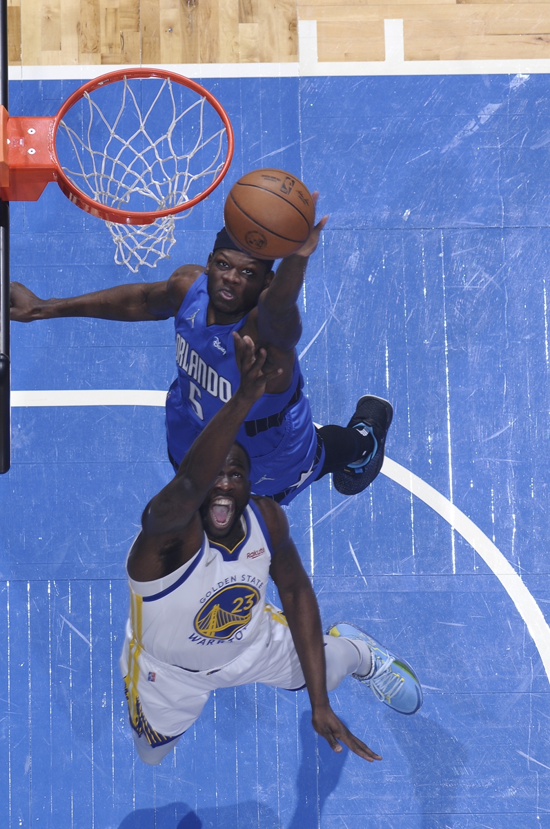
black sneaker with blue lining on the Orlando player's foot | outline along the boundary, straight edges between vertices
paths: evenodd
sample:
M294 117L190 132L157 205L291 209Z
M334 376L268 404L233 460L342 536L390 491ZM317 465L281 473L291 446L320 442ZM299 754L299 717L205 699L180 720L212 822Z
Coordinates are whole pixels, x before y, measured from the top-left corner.
M341 472L332 473L335 489L342 495L357 495L363 492L378 475L384 463L386 435L393 418L393 406L388 400L374 395L360 398L355 414L348 426L359 429L362 434L372 434L374 449L366 457L349 463Z

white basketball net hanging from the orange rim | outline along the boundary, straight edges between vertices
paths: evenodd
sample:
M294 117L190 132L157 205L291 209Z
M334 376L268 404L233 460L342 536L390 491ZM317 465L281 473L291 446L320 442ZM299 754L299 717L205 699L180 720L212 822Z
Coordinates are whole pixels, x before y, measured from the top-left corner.
M84 93L82 121L76 128L67 123L73 107L60 122L72 147L70 166L62 164L65 175L94 201L110 207L150 212L190 201L208 187L223 166L223 121L203 97L196 97L183 111L181 106L178 109L173 86L181 90L181 85L172 85L171 80L157 80L157 95L143 111L127 78L111 86L121 87L122 83L120 104L113 108L110 100L109 115ZM60 155L59 143L57 148ZM128 265L134 274L140 265L156 268L159 259L169 258L176 243L175 220L183 216L164 216L152 225L106 221L116 245L115 262Z

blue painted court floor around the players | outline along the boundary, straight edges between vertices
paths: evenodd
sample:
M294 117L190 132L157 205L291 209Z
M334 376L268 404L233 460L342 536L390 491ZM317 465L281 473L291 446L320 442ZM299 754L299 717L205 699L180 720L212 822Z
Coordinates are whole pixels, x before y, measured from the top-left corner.
M54 114L78 85L12 84L10 111ZM316 422L345 424L365 392L392 400L389 458L465 513L536 604L520 612L484 555L387 475L351 499L325 478L288 509L323 622L355 621L408 658L422 710L399 717L343 682L332 702L384 756L370 765L316 739L304 692L224 689L145 767L118 656L124 558L171 477L162 407L15 407L0 479L0 829L550 827L550 80L205 85L233 121L235 160L179 222L171 260L118 268L103 223L51 184L12 205L12 279L44 297L166 279L205 262L244 172L301 174L330 213L302 298ZM14 390L162 391L173 375L171 321L12 324Z

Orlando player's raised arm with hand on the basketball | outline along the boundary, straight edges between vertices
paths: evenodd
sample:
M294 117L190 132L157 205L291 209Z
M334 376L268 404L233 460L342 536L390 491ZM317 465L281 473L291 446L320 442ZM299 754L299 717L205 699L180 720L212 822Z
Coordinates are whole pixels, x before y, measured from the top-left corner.
M318 192L313 193L317 201ZM258 301L258 335L262 345L280 351L291 351L302 336L302 322L297 299L302 290L307 262L319 244L321 230L328 221L323 216L302 245L292 256L282 259L277 273Z

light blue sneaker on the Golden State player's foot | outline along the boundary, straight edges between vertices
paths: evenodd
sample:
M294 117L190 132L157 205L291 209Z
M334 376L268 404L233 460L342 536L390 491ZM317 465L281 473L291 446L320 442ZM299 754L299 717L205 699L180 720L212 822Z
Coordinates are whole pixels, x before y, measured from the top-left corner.
M351 676L369 686L377 700L385 702L399 714L417 713L422 705L422 687L408 662L350 622L336 622L326 633L366 642L372 655L371 671L368 676Z

